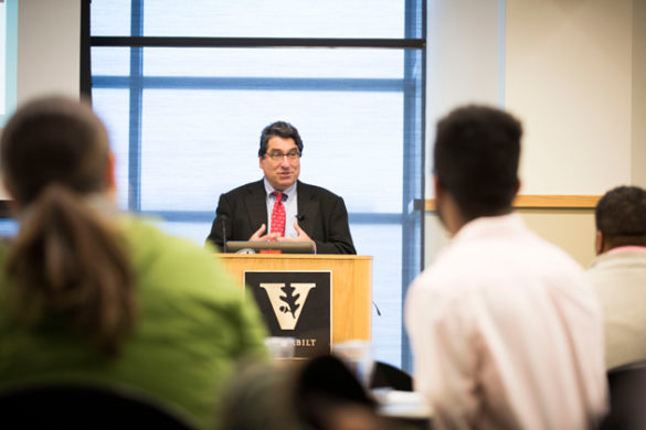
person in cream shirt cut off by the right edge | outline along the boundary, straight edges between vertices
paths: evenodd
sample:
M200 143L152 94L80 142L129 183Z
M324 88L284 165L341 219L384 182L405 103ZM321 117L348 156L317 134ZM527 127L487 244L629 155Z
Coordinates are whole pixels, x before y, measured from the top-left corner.
M605 325L605 365L646 359L646 191L619 186L595 209L597 257L587 277Z

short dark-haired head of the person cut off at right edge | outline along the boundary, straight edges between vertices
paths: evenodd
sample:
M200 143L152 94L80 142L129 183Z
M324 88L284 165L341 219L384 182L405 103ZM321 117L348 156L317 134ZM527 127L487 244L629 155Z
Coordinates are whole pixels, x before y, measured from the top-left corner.
M604 194L594 211L596 229L608 249L646 246L646 191L617 186Z

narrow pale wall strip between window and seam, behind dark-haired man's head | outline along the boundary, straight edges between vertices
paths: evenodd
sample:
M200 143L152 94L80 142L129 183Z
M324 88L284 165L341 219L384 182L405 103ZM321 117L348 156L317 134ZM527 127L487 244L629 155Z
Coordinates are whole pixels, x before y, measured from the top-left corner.
M456 106L502 106L505 2L428 0L426 49L426 171L432 170L435 123ZM433 198L427 175L426 198Z

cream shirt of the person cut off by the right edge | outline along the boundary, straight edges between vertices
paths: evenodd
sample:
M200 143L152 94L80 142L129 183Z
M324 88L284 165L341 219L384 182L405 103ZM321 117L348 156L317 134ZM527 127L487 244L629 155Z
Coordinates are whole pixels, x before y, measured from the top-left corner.
M646 247L625 246L600 255L587 278L603 309L606 367L646 359Z

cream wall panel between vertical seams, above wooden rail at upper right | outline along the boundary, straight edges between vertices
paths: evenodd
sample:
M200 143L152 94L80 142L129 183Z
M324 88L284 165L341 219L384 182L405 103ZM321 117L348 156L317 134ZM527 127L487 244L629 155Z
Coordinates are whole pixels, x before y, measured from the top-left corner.
M505 105L523 121L522 194L631 181L632 0L507 2Z

